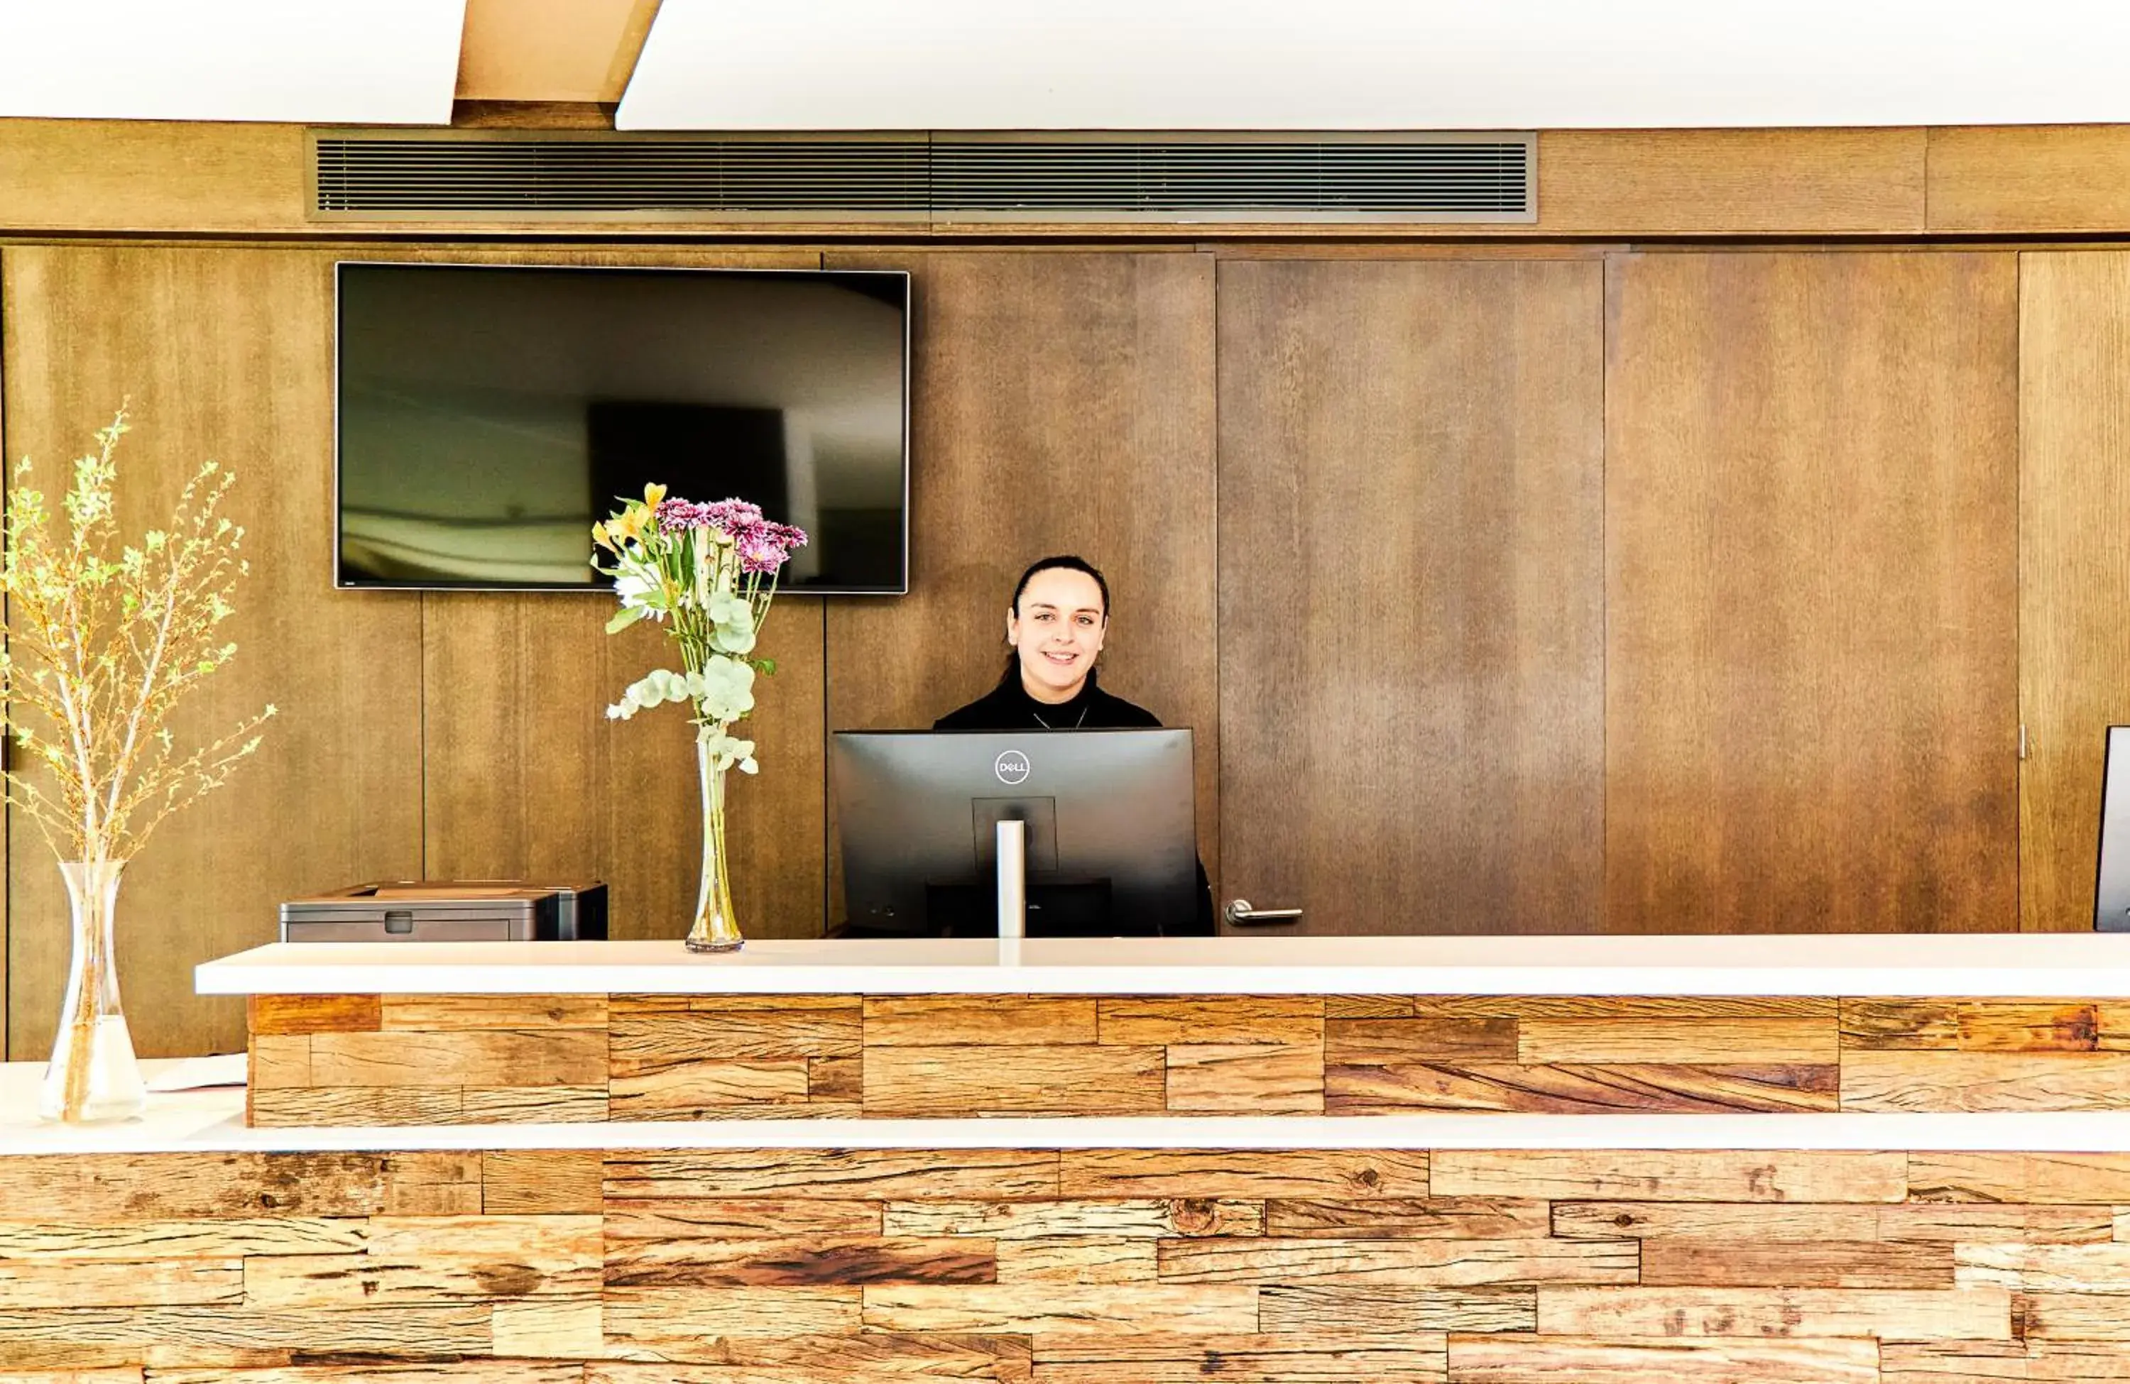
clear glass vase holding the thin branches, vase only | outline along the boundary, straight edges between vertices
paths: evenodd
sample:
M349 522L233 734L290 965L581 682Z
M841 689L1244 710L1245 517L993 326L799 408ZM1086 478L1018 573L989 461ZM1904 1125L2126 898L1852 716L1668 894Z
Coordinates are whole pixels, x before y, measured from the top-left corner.
M132 1120L147 1105L132 1035L126 1033L126 1014L119 1009L119 965L111 945L124 871L124 860L60 864L72 909L75 956L66 969L60 1035L51 1043L51 1065L36 1105L45 1120Z

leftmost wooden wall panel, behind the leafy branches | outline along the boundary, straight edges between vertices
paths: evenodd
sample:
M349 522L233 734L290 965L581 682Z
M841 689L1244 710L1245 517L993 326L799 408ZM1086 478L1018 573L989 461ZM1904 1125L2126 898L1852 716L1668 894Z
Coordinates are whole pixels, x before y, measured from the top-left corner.
M113 155L143 136L113 132ZM298 136L283 126L245 138ZM83 172L96 183L109 164L92 162L98 172ZM202 164L202 185L217 168ZM273 941L283 899L422 864L420 600L328 583L332 258L21 245L0 264L6 445L38 460L47 492L126 396L124 530L164 522L207 458L239 477L228 513L247 530L251 575L224 626L239 656L183 703L173 732L198 743L268 701L281 709L228 788L170 818L126 871L117 954L141 1056L236 1052L243 1003L196 996L192 967ZM292 809L302 803L332 807ZM43 850L13 852L9 879L9 1052L45 1056L66 896Z

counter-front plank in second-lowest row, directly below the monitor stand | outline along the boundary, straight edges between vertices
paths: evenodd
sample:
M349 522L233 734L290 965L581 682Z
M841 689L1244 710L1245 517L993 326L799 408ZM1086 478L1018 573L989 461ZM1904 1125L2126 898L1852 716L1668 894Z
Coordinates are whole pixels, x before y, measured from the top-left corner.
M1246 1335L1257 1288L1235 1284L999 1284L993 1288L865 1288L871 1331L984 1335L1142 1333Z

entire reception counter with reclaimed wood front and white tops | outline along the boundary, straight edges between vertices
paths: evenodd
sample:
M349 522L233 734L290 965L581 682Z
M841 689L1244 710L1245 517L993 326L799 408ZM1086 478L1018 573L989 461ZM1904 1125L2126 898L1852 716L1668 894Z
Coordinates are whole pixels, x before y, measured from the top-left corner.
M0 1380L2130 1380L2124 943L262 948Z

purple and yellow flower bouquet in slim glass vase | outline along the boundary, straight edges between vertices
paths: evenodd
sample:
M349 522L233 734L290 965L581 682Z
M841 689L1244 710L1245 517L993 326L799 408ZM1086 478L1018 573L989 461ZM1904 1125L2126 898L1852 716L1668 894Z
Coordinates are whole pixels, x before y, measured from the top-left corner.
M754 711L754 675L775 673L771 660L752 656L754 643L777 594L777 571L805 545L805 532L765 520L746 500L692 505L669 500L665 485L645 485L641 500L592 526L592 541L607 554L607 564L594 554L592 566L613 577L622 600L607 632L650 617L679 645L677 673L645 673L607 715L628 720L660 703L688 703L703 779L703 886L688 950L733 952L743 937L726 871L724 775L756 771L754 741L737 739L733 726Z

